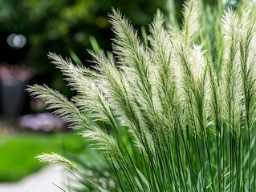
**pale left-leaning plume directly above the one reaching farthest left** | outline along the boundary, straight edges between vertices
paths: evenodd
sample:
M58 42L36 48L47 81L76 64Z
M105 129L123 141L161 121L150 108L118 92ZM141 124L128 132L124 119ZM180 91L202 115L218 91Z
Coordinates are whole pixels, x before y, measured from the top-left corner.
M78 95L72 100L79 107L79 110L87 112L92 117L97 114L96 121L115 123L110 105L104 98L103 92L100 91L100 85L96 84L101 81L100 74L74 66L71 61L64 60L56 54L49 54L49 56L54 59L53 63L61 68L63 75L67 76L66 80L71 88L77 91Z

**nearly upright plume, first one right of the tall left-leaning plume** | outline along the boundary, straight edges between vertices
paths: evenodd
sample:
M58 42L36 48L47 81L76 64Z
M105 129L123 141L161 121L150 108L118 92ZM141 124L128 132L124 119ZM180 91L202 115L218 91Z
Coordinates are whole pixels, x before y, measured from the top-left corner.
M167 135L173 137L173 110L175 110L176 87L174 82L173 66L171 65L172 44L168 32L164 29L164 17L157 11L156 17L150 26L149 42L152 55L152 62L156 68L155 86L153 91L157 92L157 98L160 102L159 112L161 121L168 130ZM177 111L176 111L177 112ZM162 136L163 137L163 136Z

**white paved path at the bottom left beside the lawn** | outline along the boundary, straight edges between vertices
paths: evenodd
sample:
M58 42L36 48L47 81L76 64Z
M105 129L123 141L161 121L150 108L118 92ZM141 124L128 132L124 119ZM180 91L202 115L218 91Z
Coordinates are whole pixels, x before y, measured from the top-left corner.
M22 179L20 182L1 183L0 192L61 192L59 187L68 191L65 187L67 176L59 166L47 166L35 174ZM55 186L57 185L57 186Z

